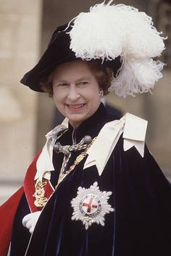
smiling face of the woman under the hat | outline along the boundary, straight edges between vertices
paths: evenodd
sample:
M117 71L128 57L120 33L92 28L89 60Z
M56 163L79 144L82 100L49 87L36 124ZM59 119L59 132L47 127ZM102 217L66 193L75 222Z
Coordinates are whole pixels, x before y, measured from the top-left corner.
M54 103L77 128L99 107L99 83L86 62L76 60L59 65L53 76Z

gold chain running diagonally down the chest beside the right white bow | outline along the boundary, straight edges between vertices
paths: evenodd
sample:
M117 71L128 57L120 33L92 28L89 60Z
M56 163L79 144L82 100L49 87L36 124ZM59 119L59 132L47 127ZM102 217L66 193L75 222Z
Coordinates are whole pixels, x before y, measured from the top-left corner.
M64 178L65 178L72 170L74 170L75 166L78 165L78 164L84 159L84 157L86 157L86 155L87 155L86 152L87 152L88 149L91 147L91 145L93 144L94 141L96 141L96 137L91 141L90 144L88 144L88 146L86 147L85 151L82 152L82 153L80 153L80 154L78 155L78 157L75 159L73 165L70 166L69 170L67 170L65 173L60 172L60 174L59 174L59 179L58 179L58 183L57 183L57 185L55 186L55 189L57 189L57 187L59 186L59 183L61 183L61 182L64 180Z

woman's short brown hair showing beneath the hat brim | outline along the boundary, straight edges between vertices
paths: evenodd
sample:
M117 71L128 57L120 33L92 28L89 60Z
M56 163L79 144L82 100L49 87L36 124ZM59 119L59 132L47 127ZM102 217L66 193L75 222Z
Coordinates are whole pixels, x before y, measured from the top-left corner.
M108 88L111 86L112 79L114 77L112 70L109 67L101 64L99 61L93 60L90 62L86 62L88 67L93 71L93 74L99 83L99 88L104 91L104 95L109 93ZM48 76L41 79L41 89L48 93L50 97L53 96L53 74L54 72Z

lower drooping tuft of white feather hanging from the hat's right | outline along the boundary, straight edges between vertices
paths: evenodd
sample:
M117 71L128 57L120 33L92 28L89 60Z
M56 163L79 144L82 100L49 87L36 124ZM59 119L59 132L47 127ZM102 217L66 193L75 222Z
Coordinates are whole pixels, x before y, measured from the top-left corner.
M153 59L123 59L117 78L112 80L109 91L115 91L117 96L135 96L146 93L154 88L154 84L162 78L163 63Z

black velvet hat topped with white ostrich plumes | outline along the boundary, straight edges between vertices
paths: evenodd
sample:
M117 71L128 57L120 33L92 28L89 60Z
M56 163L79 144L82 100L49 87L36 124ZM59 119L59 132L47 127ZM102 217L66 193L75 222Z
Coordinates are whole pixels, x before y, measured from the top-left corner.
M90 12L81 12L54 31L46 52L21 83L41 91L41 78L57 65L78 58L97 59L112 68L116 76L109 91L123 97L135 96L151 91L162 78L164 64L154 57L162 54L163 40L146 13L112 1L96 4Z

